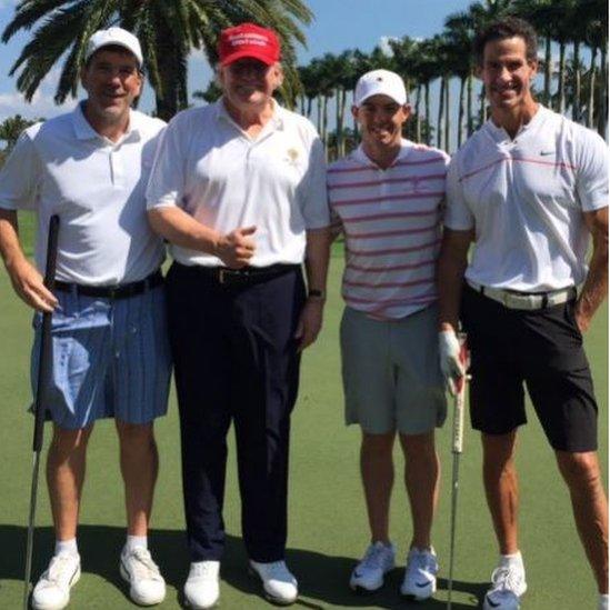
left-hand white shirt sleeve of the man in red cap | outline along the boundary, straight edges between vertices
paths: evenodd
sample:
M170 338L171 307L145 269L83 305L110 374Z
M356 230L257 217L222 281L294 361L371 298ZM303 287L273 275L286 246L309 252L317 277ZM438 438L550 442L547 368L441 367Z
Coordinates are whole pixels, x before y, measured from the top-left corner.
M147 209L182 207L188 134L176 117L159 138L147 187Z

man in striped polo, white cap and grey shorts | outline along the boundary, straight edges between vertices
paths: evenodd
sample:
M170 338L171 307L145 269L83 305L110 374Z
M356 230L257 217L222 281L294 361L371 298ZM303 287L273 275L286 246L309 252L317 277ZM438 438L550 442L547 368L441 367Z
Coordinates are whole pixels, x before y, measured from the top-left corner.
M438 498L434 428L446 417L437 358L434 264L448 157L402 139L411 112L402 79L373 70L356 87L362 143L328 170L336 228L346 237L341 353L346 421L362 429L360 468L371 544L351 574L373 591L394 564L389 538L397 431L413 536L400 592L427 599L438 563L430 530Z

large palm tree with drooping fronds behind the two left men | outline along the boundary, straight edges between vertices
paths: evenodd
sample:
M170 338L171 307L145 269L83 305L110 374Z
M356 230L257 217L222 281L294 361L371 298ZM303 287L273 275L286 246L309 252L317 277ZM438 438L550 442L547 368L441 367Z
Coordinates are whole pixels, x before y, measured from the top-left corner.
M140 39L157 114L167 120L188 103L187 60L191 49L202 49L216 64L219 31L243 21L278 32L287 64L283 97L293 100L299 87L294 46L304 44L299 23L307 24L311 18L302 0L22 0L2 41L20 30L37 28L10 71L11 76L19 71L17 87L28 101L51 68L66 57L54 96L61 103L68 96L77 96L88 39L96 30L120 24Z

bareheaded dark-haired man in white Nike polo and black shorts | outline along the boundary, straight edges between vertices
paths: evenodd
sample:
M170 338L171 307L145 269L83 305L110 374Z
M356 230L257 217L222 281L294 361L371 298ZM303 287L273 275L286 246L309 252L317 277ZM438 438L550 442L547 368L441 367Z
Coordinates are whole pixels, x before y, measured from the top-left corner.
M483 607L518 608L527 589L514 467L524 383L607 608L608 502L582 333L608 292L608 148L533 99L537 50L536 33L516 18L477 37L491 118L449 169L438 278L441 368L448 378L463 374L456 338L461 298L472 351L471 420L482 432L483 481L501 553Z

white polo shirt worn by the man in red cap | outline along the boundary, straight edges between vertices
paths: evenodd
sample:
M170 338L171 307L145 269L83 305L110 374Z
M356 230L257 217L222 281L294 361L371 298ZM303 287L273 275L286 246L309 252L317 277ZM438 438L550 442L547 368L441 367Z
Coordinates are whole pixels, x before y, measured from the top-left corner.
M329 224L323 147L306 118L277 103L251 139L220 99L171 120L147 201L149 209L177 206L222 233L256 226L253 267L301 263L306 230ZM200 251L178 246L171 251L183 264L222 264Z

